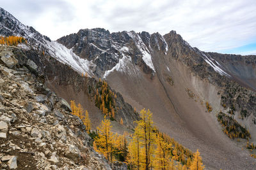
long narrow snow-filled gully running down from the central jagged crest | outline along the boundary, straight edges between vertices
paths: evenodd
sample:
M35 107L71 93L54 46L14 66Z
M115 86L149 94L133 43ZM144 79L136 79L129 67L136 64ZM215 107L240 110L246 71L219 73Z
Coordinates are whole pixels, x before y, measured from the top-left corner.
M133 39L134 43L136 44L137 48L139 48L140 52L142 53L143 57L142 59L147 64L150 69L152 69L154 72L156 72L156 69L154 67L154 64L152 62L152 56L150 55L150 52L148 51L147 46L143 43L142 39L136 32L127 32L127 34Z

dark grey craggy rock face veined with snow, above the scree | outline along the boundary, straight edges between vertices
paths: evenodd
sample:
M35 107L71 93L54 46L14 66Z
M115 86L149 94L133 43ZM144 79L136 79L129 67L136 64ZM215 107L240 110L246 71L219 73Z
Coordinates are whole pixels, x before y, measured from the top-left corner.
M148 32L147 35L150 38ZM140 34L134 31L110 34L105 29L81 29L77 34L64 36L57 41L67 48L72 48L79 57L92 60L96 65L93 73L99 77L102 77L105 71L115 67L124 55L131 57L132 63L140 66L145 73L154 72L142 59L144 54L141 52L140 45L143 45L143 41L141 41ZM145 45L143 45L143 50L150 53L150 48Z

